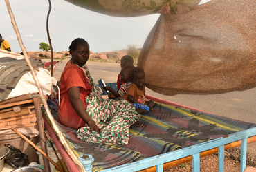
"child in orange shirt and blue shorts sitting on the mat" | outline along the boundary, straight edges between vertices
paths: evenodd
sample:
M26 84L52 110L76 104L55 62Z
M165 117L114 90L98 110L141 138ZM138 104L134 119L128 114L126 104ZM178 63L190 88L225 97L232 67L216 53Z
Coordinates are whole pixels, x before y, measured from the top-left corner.
M142 67L135 67L132 72L132 85L125 93L124 99L132 103L139 114L147 114L153 109L153 100L146 101L145 97L145 71Z

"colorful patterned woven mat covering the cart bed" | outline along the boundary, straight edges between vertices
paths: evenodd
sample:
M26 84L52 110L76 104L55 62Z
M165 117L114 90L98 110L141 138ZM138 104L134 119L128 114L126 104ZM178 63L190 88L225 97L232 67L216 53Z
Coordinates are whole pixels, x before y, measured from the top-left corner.
M52 114L57 119L57 113L52 110ZM253 123L163 103L157 103L149 114L143 115L131 126L129 144L125 146L83 142L77 138L74 129L58 122L57 124L77 156L83 153L93 155L93 171L190 147L256 126Z

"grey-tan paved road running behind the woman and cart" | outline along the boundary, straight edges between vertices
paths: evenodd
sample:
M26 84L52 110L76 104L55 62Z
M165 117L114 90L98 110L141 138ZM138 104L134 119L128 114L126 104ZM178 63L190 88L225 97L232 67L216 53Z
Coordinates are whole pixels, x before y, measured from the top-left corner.
M54 77L60 80L60 74L66 65L66 61L59 63L55 69ZM120 63L87 63L91 76L95 81L103 78L105 83L116 82L120 72ZM146 94L169 100L174 103L193 107L208 111L212 114L226 116L246 122L256 122L256 88L248 89L243 92L230 92L226 94L214 95L176 95L164 96L149 89L146 89ZM256 144L250 144L249 151L256 153Z

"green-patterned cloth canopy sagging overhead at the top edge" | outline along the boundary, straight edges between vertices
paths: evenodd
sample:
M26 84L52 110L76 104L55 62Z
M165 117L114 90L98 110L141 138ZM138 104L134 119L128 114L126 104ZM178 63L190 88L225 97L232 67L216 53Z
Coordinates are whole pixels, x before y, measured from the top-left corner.
M183 14L193 10L201 0L65 0L94 12L117 17L147 14Z

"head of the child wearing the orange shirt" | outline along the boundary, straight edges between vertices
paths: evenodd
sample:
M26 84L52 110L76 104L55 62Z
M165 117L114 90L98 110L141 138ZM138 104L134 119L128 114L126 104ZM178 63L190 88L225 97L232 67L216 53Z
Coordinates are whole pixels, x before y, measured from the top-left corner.
M142 67L135 67L131 72L132 83L137 85L138 89L145 85L145 71Z

